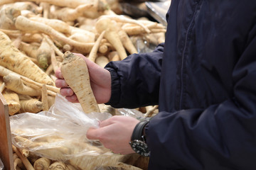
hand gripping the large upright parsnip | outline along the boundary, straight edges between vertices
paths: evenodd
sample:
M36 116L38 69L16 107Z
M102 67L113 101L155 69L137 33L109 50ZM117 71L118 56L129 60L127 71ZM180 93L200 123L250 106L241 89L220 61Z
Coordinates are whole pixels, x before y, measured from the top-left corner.
M87 57L81 54L75 54L82 57L85 60L88 71L90 74L90 84L92 86L93 94L97 100L97 103L107 103L110 101L111 96L111 76L110 72L103 69L99 65L91 62ZM60 72L60 68L56 70L55 76L57 77L55 85L60 88L60 94L66 96L70 102L78 102L77 96L75 96L74 91L68 87L65 82L63 75Z

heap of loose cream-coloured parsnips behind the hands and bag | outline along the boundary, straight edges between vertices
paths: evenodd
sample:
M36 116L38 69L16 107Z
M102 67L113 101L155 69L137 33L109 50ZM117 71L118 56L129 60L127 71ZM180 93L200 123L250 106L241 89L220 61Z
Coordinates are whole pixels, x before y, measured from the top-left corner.
M9 115L48 111L59 92L55 70L67 51L105 67L137 53L139 41L164 42L164 26L124 16L115 11L117 6L118 1L112 0L0 1L0 91ZM157 106L139 110L152 116ZM63 162L51 167L51 160L37 157L44 159L42 168L28 160L26 149L13 149L18 155L14 154L15 169L71 169Z

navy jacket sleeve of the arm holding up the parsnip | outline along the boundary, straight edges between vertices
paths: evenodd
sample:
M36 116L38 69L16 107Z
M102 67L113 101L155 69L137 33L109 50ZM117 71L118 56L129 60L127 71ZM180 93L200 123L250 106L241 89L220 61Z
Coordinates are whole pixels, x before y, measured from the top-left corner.
M112 94L106 104L114 108L138 108L155 105L159 101L159 83L164 43L153 52L129 55L118 62L110 62L105 69L112 78Z

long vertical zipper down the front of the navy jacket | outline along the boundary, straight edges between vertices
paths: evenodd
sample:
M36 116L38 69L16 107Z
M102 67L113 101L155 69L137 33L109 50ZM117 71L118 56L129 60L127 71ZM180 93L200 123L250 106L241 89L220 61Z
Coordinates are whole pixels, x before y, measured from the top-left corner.
M184 72L184 60L185 60L186 46L187 46L187 42L188 42L188 34L189 34L189 32L192 28L191 26L192 26L193 20L196 16L196 8L198 7L198 2L199 2L199 0L196 0L195 10L193 11L193 17L191 18L191 22L188 25L188 30L186 31L185 45L184 45L183 52L182 52L182 58L181 58L181 91L180 91L178 110L181 110L181 108L182 108L183 84L184 84L184 81L185 81L185 79L183 78L183 74L184 74L183 72Z

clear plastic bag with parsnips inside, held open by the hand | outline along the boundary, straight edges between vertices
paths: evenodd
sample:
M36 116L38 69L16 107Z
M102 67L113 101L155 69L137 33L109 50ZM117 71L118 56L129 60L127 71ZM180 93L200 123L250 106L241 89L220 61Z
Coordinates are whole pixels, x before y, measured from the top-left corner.
M136 110L117 109L117 112L138 119L143 117ZM100 120L111 116L110 113L85 114L80 103L70 103L57 94L49 111L10 117L12 142L18 148L52 160L68 161L80 169L115 166L130 156L113 154L99 141L86 137L88 128L97 128Z

